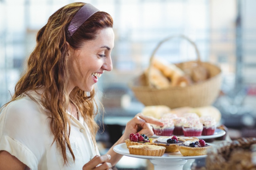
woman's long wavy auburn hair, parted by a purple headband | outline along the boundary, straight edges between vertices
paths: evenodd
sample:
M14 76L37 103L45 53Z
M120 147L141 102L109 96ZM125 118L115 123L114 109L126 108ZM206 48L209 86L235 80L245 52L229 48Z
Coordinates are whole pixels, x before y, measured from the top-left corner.
M29 90L43 87L42 102L50 112L50 128L54 135L53 142L61 146L64 164L67 164L66 147L75 156L69 142L70 116L67 108L72 103L82 113L88 124L93 143L99 127L94 117L98 106L94 100L95 90L86 92L75 87L67 93L69 69L67 43L73 49L80 49L84 41L93 40L101 29L113 27L112 17L99 11L88 18L74 35L67 40L67 26L85 3L71 3L63 6L48 19L47 24L37 33L37 44L27 61L27 70L15 86L14 101ZM10 101L10 102L11 102ZM10 103L8 102L8 103Z

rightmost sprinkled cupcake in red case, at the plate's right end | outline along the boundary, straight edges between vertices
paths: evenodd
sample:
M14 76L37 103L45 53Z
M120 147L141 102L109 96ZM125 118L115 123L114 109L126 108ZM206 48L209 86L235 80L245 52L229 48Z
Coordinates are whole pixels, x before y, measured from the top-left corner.
M216 129L216 121L211 116L200 117L200 122L203 124L202 135L208 136L213 135Z

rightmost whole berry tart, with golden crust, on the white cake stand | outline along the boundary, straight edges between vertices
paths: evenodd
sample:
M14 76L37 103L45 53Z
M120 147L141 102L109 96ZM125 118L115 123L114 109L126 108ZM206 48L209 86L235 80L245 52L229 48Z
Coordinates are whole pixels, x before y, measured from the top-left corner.
M178 145L178 149L183 156L201 156L206 155L207 150L212 146L205 143L204 140L199 141L188 140Z

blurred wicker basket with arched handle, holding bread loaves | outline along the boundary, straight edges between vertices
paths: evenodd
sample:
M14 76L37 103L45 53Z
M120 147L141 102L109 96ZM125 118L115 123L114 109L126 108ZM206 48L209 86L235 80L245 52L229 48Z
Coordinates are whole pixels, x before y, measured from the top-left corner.
M177 107L202 107L211 105L219 95L221 88L221 69L211 63L200 61L200 54L197 46L193 41L184 35L171 36L163 39L153 51L150 57L150 67L152 65L152 59L155 56L158 48L166 41L173 38L183 38L189 41L196 50L197 60L187 61L176 64L179 68L184 69L192 65L204 66L210 74L210 78L200 82L193 83L186 87L168 87L166 89L156 89L150 84L150 80L147 78L148 75L145 73L136 77L133 82L130 83L130 88L133 90L135 97L142 102L145 106L148 105L167 105L171 109Z

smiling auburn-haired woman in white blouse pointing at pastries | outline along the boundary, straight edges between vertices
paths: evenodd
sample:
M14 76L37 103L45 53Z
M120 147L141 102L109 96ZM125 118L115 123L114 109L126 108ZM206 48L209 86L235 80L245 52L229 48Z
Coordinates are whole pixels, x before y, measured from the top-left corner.
M136 115L106 155L99 156L95 135L98 111L94 84L112 70L112 17L94 6L60 8L38 31L27 71L0 114L1 170L105 170L122 157L113 151L130 133L153 135Z

